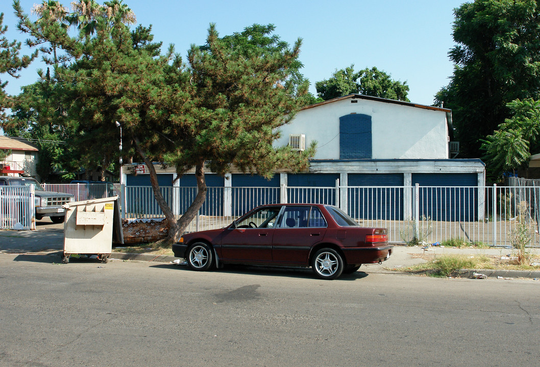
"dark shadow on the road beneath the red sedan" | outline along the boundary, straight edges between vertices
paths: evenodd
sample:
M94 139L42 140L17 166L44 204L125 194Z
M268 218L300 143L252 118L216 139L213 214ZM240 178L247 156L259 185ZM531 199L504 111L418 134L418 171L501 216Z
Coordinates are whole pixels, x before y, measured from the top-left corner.
M187 265L176 264L159 264L152 265L151 267L162 269L178 269L181 271L193 272ZM226 274L249 274L260 276L284 276L286 278L297 279L318 279L315 278L311 268L298 268L298 267L268 267L268 266L254 266L254 265L237 265L227 264L224 268L219 270L212 270L213 272L226 273ZM366 278L368 276L365 272L355 272L352 274L342 274L336 281L352 281L356 279Z

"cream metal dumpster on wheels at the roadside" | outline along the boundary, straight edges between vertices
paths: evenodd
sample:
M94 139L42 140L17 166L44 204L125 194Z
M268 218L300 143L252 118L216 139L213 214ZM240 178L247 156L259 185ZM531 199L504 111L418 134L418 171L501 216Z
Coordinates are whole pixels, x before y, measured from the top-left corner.
M113 196L63 206L66 209L62 258L64 264L69 262L71 255L96 255L102 262L109 261L113 225L115 219L120 220L117 198L118 196Z

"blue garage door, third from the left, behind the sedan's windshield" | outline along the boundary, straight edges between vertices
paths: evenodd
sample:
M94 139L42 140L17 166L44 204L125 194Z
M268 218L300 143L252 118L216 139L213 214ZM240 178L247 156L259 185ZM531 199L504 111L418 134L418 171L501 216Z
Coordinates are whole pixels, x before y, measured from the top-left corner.
M256 206L279 203L280 175L266 179L258 175L232 174L232 214L241 216Z

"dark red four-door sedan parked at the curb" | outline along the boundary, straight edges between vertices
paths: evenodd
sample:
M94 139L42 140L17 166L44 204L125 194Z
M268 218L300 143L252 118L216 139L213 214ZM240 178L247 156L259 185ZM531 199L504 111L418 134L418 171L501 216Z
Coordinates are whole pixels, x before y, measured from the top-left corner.
M185 234L172 246L196 271L222 264L311 266L321 279L381 263L392 248L385 228L361 227L323 204L262 205L225 228Z

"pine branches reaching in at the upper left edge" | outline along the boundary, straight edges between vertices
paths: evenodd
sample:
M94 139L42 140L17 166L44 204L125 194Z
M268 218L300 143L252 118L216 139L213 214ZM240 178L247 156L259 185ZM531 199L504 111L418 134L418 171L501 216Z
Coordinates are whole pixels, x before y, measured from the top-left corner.
M30 56L20 56L21 43L16 40L10 41L5 37L8 26L3 25L4 13L0 13L0 74L8 73L13 78L19 78L19 72L30 65L37 57L37 51ZM7 81L0 79L0 120L5 120L8 116L6 108L11 108L14 100L5 93Z

